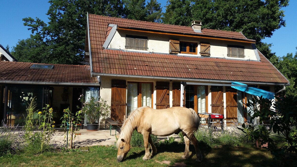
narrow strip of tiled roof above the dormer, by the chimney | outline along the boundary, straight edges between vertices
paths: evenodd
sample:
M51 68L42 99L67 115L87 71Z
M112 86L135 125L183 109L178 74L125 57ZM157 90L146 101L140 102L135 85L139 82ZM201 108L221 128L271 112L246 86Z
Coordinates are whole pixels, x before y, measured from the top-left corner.
M96 24L98 24L99 22L116 24L118 25L118 27L122 27L122 28L143 29L143 30L150 30L150 31L162 31L162 32L178 33L178 34L190 34L190 35L197 35L197 36L221 37L221 38L255 41L255 40L247 39L240 32L202 29L201 30L202 33L198 33L198 32L194 32L192 27L188 27L188 26L176 26L176 25L170 25L170 24L136 21L136 20L123 19L123 18L114 18L114 17L89 14L89 26L97 27L98 25ZM100 31L100 29L98 30Z

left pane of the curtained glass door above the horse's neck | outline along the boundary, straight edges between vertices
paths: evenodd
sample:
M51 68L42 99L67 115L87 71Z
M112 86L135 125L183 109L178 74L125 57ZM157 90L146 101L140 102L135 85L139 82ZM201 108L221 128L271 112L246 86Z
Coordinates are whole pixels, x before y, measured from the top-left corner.
M137 106L138 83L128 83L127 85L127 116L135 110Z

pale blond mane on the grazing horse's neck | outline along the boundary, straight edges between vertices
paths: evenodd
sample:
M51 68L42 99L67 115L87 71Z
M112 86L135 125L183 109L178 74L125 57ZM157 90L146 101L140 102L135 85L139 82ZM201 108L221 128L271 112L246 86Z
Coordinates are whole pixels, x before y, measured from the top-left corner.
M118 141L116 142L116 147L119 148L119 141L121 139L124 139L126 142L130 143L132 133L134 129L136 128L136 120L140 118L141 113L143 112L144 108L147 108L148 106L143 106L140 108L136 108L134 111L132 111L128 118L124 121L122 127L121 127L121 133L118 138Z

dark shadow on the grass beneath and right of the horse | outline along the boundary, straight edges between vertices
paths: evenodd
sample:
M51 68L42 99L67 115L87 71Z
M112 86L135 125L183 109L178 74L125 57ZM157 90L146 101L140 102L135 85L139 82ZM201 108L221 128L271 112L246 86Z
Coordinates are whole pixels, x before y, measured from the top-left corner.
M152 158L157 159L157 155L167 153L183 154L185 144L160 144L157 147L157 153L153 154ZM219 148L211 148L204 142L199 142L200 151L203 155L202 163L196 162L196 152L194 146L189 146L190 157L187 160L180 158L171 158L170 166L277 166L278 163L272 160L270 152L264 149L257 149L253 146L234 147L234 146L221 146ZM141 150L142 149L142 150ZM139 151L133 152L132 155L127 156L128 159L135 159L143 157L145 154L144 147L139 148ZM166 160L166 159L164 159Z

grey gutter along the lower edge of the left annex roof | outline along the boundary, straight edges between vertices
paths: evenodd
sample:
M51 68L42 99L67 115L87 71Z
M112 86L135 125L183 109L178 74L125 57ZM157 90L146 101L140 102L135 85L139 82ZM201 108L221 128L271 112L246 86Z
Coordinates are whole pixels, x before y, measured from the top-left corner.
M57 85L57 86L100 86L100 83L71 83L71 82L32 82L32 81L0 81L10 84Z

